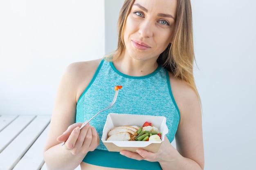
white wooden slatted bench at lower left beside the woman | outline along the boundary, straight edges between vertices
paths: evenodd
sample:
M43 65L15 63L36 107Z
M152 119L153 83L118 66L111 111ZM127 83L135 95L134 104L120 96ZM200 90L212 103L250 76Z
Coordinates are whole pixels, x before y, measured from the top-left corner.
M51 115L0 115L0 170L47 170L43 147L50 119Z

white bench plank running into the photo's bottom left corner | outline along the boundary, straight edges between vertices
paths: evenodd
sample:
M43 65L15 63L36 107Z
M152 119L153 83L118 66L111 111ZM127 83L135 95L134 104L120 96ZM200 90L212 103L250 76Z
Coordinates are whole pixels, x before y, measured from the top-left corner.
M49 124L50 117L37 116L0 154L0 170L12 169L30 146L36 141L40 133ZM42 152L41 152L42 153ZM29 166L29 165L28 165ZM29 169L23 167L22 169Z

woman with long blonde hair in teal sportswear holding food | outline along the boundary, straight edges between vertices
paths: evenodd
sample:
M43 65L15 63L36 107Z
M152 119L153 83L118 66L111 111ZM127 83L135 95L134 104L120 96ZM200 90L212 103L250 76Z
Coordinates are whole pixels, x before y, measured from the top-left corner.
M112 55L73 63L63 74L45 144L47 167L72 170L80 164L82 170L202 170L202 118L193 79L190 1L125 0L118 28L118 47ZM115 105L79 130L83 121L111 102L116 85L123 88ZM108 152L100 141L108 113L165 116L166 140L157 153L142 149ZM177 150L170 144L174 137Z

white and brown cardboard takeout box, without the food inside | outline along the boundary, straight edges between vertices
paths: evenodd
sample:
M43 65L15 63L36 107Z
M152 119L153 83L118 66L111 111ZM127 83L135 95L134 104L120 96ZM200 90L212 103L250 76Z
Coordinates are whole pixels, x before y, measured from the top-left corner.
M106 146L108 151L120 152L121 150L128 150L136 152L137 149L144 149L150 152L158 152L162 141L106 141L108 138L108 132L111 128L117 126L142 126L145 121L151 122L152 126L159 129L162 132L162 141L164 141L165 135L168 133L166 126L166 118L164 116L150 116L150 115L130 115L130 114L108 114L105 126L103 128L103 134L101 141Z

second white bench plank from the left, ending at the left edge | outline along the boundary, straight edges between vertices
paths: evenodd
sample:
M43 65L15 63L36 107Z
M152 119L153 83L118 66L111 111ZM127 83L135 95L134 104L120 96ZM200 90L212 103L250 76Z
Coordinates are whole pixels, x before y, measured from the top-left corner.
M34 117L34 115L19 116L0 132L0 153L19 135Z

